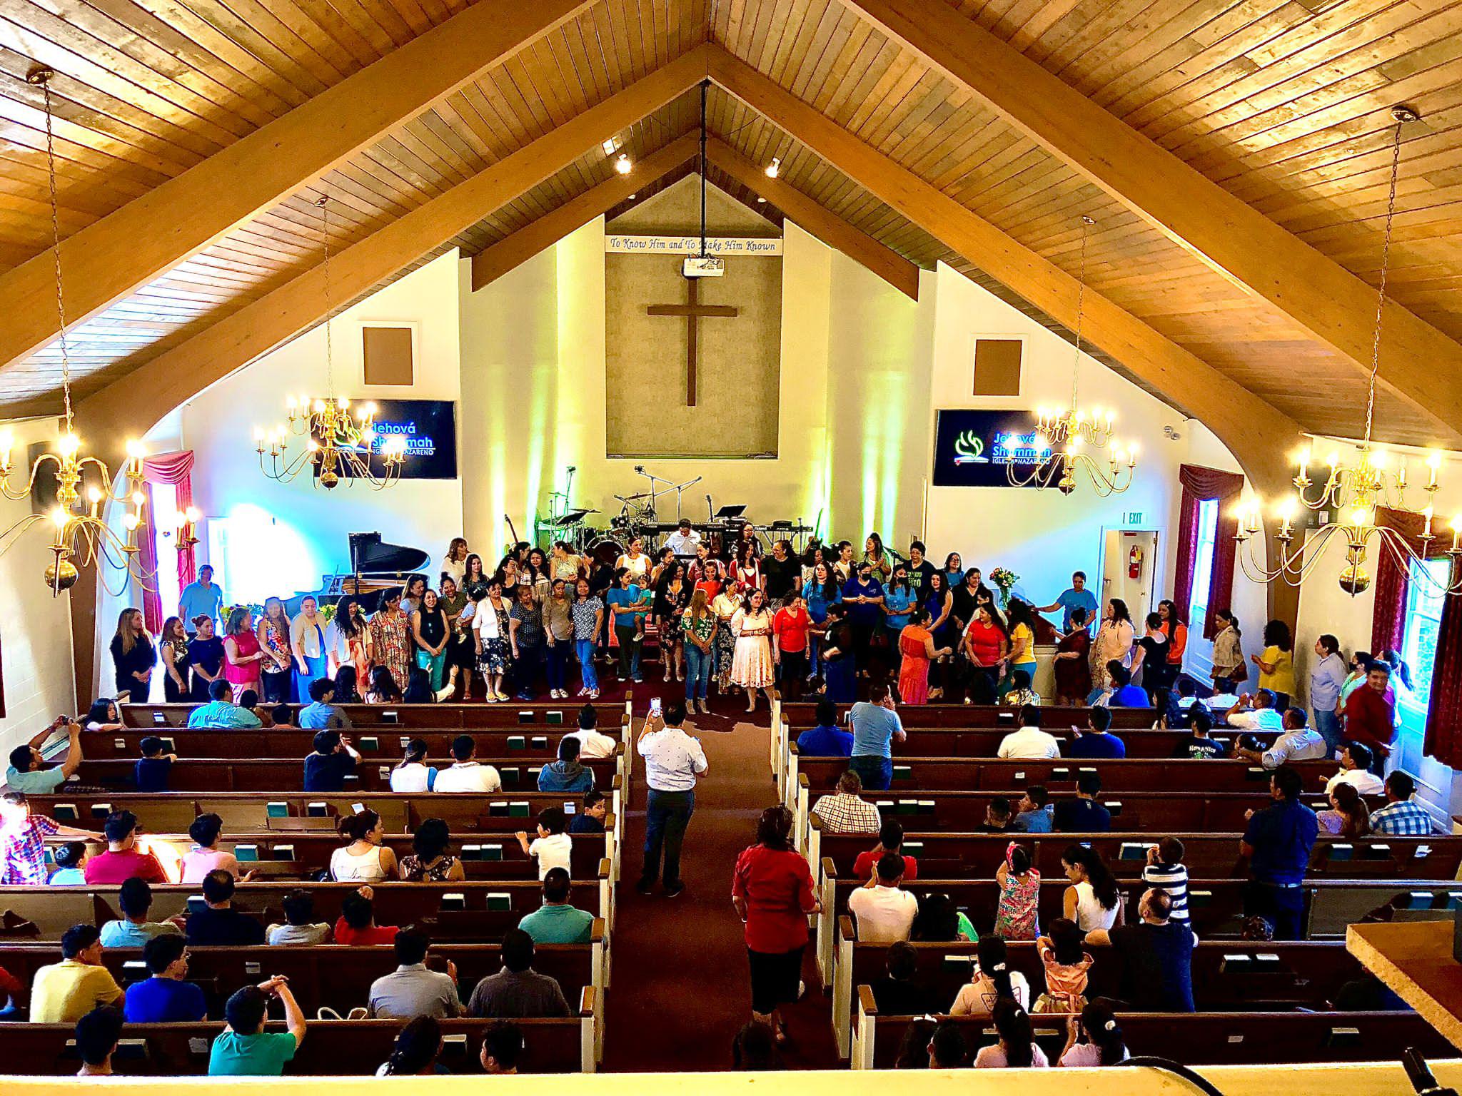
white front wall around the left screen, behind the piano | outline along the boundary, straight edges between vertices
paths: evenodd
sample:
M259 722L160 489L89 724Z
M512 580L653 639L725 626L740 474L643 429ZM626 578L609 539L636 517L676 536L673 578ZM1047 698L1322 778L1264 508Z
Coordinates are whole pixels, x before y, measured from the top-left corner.
M411 323L417 327L415 383L406 387L364 384L360 327ZM461 397L458 351L458 259L449 253L346 310L332 321L335 392L349 399ZM385 491L342 481L333 491L314 487L308 473L281 484L266 479L253 452L256 425L284 421L285 393L326 390L325 327L238 370L184 405L178 443L196 456L194 504L208 519L243 526L268 557L268 571L253 590L281 595L317 589L326 573L349 568L348 533L380 532L393 544L423 548L440 558L462 530L462 484L450 479L402 479ZM459 406L461 433L461 406ZM295 443L298 444L298 443ZM151 449L159 449L149 441ZM459 471L462 453L458 452ZM200 545L206 557L206 541ZM235 557L238 560L238 557ZM200 563L203 558L199 560ZM227 595L228 560L208 560ZM247 561L244 561L247 564Z

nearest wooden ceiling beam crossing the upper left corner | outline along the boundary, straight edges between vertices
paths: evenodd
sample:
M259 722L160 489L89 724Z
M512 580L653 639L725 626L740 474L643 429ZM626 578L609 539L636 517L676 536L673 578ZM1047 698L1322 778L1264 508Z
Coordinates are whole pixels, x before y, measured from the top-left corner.
M61 241L77 324L314 184L594 0L478 0L288 114ZM57 335L54 248L0 275L0 370Z

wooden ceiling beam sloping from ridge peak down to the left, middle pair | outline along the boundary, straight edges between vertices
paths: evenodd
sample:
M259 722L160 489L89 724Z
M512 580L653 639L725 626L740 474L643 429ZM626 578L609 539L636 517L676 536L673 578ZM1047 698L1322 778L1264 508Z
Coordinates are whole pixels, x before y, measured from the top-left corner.
M706 47L696 47L624 91L529 142L485 171L459 183L330 260L335 307L352 301L443 241L465 232L614 133L690 91L706 76ZM137 434L213 381L247 365L326 316L323 265L151 358L77 408L88 437L120 450L117 424Z

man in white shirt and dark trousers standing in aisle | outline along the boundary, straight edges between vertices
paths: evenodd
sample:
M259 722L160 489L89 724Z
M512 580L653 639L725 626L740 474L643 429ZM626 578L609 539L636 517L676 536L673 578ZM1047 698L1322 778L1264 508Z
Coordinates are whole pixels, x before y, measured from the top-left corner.
M686 890L680 878L680 846L686 827L696 811L696 777L705 776L706 751L699 739L684 732L686 709L680 701L665 704L664 716L651 712L639 737L639 754L645 758L645 783L649 801L645 808L645 867L636 890L649 894L661 875L659 856L664 849L665 896L677 897Z

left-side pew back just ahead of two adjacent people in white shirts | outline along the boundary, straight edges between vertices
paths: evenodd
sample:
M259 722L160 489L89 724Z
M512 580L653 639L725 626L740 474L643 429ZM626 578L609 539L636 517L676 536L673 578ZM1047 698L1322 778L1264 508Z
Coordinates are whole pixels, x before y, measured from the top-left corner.
M228 734L221 731L216 734ZM308 753L308 751L306 751ZM480 757L481 764L497 769L503 794L537 792L538 770L545 761L529 757ZM85 760L77 770L82 783L129 791L136 758ZM392 760L363 758L345 777L346 791L389 792ZM618 776L620 758L594 757L583 763L594 770L595 786L608 792ZM304 754L300 757L186 757L173 763L168 791L173 792L276 792L297 791L304 785ZM496 792L490 794L496 795ZM481 798L481 796L478 796Z

